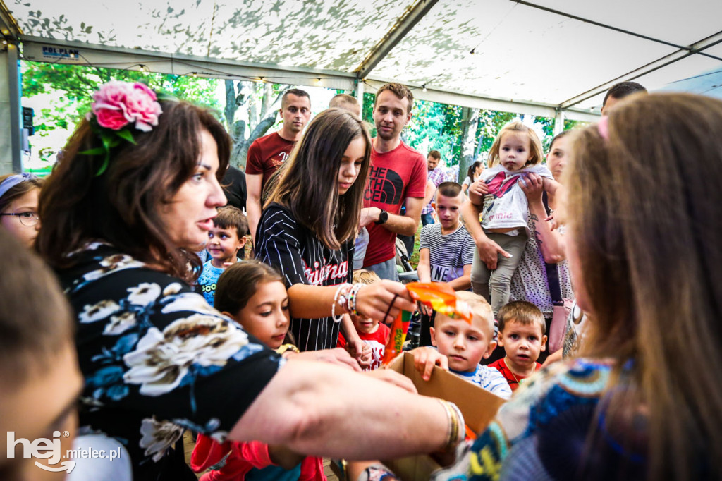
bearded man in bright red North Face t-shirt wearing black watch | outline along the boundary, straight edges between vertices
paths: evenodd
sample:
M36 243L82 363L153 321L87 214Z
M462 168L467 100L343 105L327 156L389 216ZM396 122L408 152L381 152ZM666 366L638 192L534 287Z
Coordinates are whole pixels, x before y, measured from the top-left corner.
M421 218L426 189L425 157L401 141L409 123L414 95L391 83L376 92L373 121L377 134L371 149L371 171L361 211L361 227L368 230L364 269L381 279L399 280L396 272L396 234L414 235ZM406 201L406 214L399 215Z

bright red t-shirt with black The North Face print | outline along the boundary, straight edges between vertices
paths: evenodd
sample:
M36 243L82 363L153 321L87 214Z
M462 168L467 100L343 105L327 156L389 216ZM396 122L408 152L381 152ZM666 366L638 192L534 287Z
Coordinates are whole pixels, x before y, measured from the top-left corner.
M371 149L371 171L364 196L364 207L378 207L399 214L406 197L423 199L426 192L426 159L401 142L391 152ZM366 226L369 235L363 267L386 262L396 256L396 234L383 225Z

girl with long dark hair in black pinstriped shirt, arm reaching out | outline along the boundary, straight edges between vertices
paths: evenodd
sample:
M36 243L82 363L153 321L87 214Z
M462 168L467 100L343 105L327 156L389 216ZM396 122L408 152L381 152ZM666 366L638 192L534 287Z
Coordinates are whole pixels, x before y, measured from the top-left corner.
M370 149L359 118L324 110L291 152L258 223L256 256L284 276L302 351L335 347L342 325L349 344L360 347L349 311L381 321L388 311L388 322L400 308L414 311L398 282L349 284Z

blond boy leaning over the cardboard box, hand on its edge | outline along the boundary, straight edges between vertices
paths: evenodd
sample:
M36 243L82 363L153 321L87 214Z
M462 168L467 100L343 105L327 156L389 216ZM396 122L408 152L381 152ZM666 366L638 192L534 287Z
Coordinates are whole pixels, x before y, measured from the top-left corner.
M452 319L436 313L436 325L430 328L431 342L436 350L431 347L414 349L414 365L425 379L429 378L433 365L448 365L448 370L456 376L498 397L509 399L511 389L504 376L495 368L479 365L482 359L492 354L497 345L494 341L491 306L482 296L469 291L456 293L456 298L471 308L471 324L465 319Z

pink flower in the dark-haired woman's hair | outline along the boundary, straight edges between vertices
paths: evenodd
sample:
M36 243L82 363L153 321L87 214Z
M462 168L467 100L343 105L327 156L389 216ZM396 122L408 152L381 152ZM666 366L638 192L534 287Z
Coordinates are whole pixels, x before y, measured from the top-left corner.
M111 81L93 94L92 111L97 123L106 129L120 130L128 123L144 132L158 125L162 113L155 92L139 82Z

